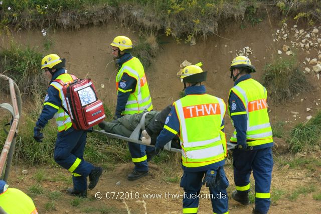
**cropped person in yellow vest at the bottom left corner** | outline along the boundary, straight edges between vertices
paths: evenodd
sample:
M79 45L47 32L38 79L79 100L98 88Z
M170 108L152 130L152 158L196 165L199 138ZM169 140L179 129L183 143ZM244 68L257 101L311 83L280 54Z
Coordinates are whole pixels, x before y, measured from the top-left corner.
M38 211L27 194L16 188L8 188L8 184L0 180L0 213L38 214Z

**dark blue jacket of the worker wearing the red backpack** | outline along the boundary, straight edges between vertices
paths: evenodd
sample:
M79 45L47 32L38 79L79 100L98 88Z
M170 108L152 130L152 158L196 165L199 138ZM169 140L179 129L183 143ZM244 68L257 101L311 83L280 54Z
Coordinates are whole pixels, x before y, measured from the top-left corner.
M55 80L59 75L61 75L63 73L66 73L64 68L58 69L53 74L50 82ZM59 97L59 90L57 90L55 87L53 87L51 85L49 85L49 87L47 89L47 94L46 94L44 103L46 103L46 102L49 102L49 103L56 105L58 107L61 106L61 104L62 104L61 99ZM53 106L51 106L49 104L45 104L42 109L42 112L39 116L39 119L36 122L36 126L40 127L40 128L44 128L46 126L46 124L48 123L48 121L54 117L56 112L58 112L58 109L54 108Z

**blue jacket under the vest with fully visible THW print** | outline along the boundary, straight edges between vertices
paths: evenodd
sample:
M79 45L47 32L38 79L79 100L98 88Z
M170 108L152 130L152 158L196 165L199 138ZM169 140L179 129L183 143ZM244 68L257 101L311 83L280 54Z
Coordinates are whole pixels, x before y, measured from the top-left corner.
M188 95L188 94L204 94L206 93L206 88L204 85L200 85L200 86L190 86L187 87L184 91L184 95ZM165 122L166 126L170 127L173 131L180 133L180 121L178 118L178 115L176 113L175 110L175 106L172 106L171 112L168 115L168 118L166 119ZM224 131L224 120L222 122L222 131ZM169 141L171 141L174 137L176 136L176 134L174 134L173 132L168 131L167 129L163 129L162 132L158 135L157 139L156 139L156 144L155 147L160 149L163 148ZM213 164L209 164L206 166L202 166L202 167L185 167L182 165L183 170L185 171L192 171L192 172L197 172L197 171L207 171L209 169L216 169L219 166L223 166L225 163L225 160L213 163Z

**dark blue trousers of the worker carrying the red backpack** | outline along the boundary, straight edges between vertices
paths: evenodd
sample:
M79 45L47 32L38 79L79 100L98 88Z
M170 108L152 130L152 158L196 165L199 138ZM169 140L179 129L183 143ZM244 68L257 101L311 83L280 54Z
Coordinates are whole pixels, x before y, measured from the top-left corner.
M87 131L75 130L72 127L58 132L54 159L63 168L72 172L74 189L87 189L87 176L94 166L85 161L84 150Z

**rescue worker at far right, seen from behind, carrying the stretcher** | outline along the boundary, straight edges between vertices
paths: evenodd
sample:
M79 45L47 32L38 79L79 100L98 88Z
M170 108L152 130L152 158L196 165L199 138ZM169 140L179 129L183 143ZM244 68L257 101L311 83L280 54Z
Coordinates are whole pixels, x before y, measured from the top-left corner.
M272 177L272 130L267 113L267 91L251 78L255 67L245 56L233 59L230 66L234 87L228 98L228 113L235 128L231 143L233 151L236 190L232 198L243 205L250 203L250 175L255 180L255 207L253 213L267 213L270 206Z

